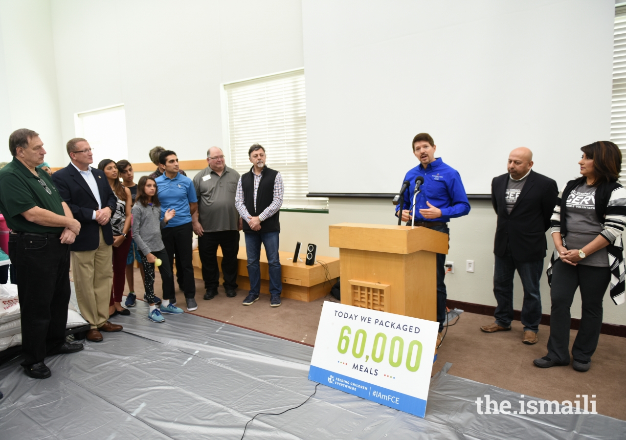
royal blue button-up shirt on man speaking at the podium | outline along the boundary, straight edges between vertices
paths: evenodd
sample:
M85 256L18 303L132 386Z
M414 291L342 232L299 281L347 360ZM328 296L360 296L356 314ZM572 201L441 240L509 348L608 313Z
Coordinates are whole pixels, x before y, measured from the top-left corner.
M441 158L436 158L426 166L426 170L420 163L409 170L404 180L411 182L409 188L404 192L403 209L408 209L413 215L413 190L415 189L415 179L421 176L424 183L419 187L421 193L415 201L415 221L416 222L449 222L451 218L461 217L469 213L469 201L461 182L459 172L444 163ZM424 218L419 214L419 210L428 209L426 201L441 210L439 218ZM399 210L396 206L396 212Z

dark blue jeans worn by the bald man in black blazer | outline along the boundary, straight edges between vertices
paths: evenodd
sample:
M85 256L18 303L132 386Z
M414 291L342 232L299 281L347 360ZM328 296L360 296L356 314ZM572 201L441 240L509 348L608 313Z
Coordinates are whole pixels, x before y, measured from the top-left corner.
M513 320L513 276L517 269L517 273L520 274L521 285L524 287L521 323L524 325L524 331L538 332L541 321L539 282L543 272L543 258L535 261L518 261L513 258L507 245L505 255L503 257L495 255L495 259L493 295L496 297L498 307L496 307L493 316L496 319L496 324L510 327Z

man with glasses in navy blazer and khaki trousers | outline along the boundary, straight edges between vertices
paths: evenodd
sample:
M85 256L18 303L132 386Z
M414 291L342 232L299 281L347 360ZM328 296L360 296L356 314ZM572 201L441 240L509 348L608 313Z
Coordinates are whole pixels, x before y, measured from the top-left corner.
M100 330L118 332L122 329L121 325L108 322L113 284L110 219L117 199L105 173L91 168L93 153L85 139L69 140L67 151L71 162L56 171L52 179L74 218L81 224L80 236L70 247L76 300L81 315L91 324L87 340L100 342Z

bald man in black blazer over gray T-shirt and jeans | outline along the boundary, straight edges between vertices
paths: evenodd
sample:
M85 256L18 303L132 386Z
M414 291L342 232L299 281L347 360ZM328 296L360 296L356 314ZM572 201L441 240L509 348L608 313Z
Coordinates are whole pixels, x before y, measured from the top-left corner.
M539 340L539 283L547 248L545 233L550 227L558 195L557 182L535 173L532 166L532 151L525 147L516 148L508 158L508 173L491 181L491 203L498 214L493 248L493 294L498 307L495 322L480 327L488 333L511 330L513 276L517 270L524 287L521 307L524 344L536 344Z

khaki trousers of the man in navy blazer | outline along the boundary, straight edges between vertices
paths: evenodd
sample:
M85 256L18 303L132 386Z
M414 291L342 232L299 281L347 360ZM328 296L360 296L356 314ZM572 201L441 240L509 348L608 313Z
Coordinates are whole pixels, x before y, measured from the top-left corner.
M81 315L99 329L109 319L113 285L113 247L105 243L100 230L100 246L95 250L71 252L72 276Z

